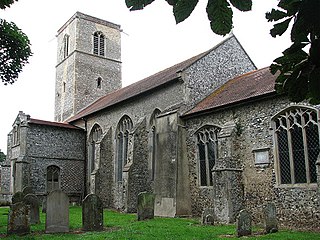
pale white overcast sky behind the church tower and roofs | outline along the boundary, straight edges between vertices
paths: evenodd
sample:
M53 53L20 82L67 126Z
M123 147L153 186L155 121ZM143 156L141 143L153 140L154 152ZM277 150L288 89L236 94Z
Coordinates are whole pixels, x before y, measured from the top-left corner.
M258 68L269 66L289 47L289 34L272 38L265 19L277 0L253 0L252 11L234 9L233 34ZM0 83L0 150L7 152L7 134L19 111L53 121L56 34L77 11L121 25L122 84L127 86L153 73L204 52L224 37L215 35L200 0L191 16L176 24L172 7L156 0L142 11L130 12L125 0L19 0L0 18L14 22L30 39L33 56L18 81Z

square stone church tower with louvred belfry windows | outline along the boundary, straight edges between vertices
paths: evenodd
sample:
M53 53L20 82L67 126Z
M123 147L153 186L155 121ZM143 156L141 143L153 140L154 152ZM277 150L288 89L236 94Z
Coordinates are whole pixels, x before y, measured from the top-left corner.
M54 120L121 88L120 26L77 12L58 30Z

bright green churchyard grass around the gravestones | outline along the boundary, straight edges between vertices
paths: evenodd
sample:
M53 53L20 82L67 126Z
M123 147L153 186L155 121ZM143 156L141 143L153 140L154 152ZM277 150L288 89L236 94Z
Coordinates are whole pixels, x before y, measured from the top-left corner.
M199 224L199 220L190 218L155 218L138 222L135 214L121 214L110 210L104 211L104 231L83 232L80 207L70 207L68 234L45 234L45 214L41 214L41 223L31 226L31 234L6 236L7 217L8 208L0 208L0 238L4 239L237 239L234 225L203 226ZM252 237L241 239L320 239L320 233L281 230L269 235L257 235L259 231L261 229L255 228Z

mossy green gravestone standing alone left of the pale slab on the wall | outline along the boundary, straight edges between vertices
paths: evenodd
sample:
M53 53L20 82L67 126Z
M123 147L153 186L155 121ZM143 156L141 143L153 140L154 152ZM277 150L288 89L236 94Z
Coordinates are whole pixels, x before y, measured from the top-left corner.
M154 218L154 200L153 193L141 192L138 194L138 221Z

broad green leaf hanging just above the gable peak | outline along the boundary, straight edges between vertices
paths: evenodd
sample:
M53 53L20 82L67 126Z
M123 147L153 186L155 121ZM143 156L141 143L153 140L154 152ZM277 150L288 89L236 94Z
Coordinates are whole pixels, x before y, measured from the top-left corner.
M209 0L207 15L214 33L224 36L231 31L233 12L226 0Z

